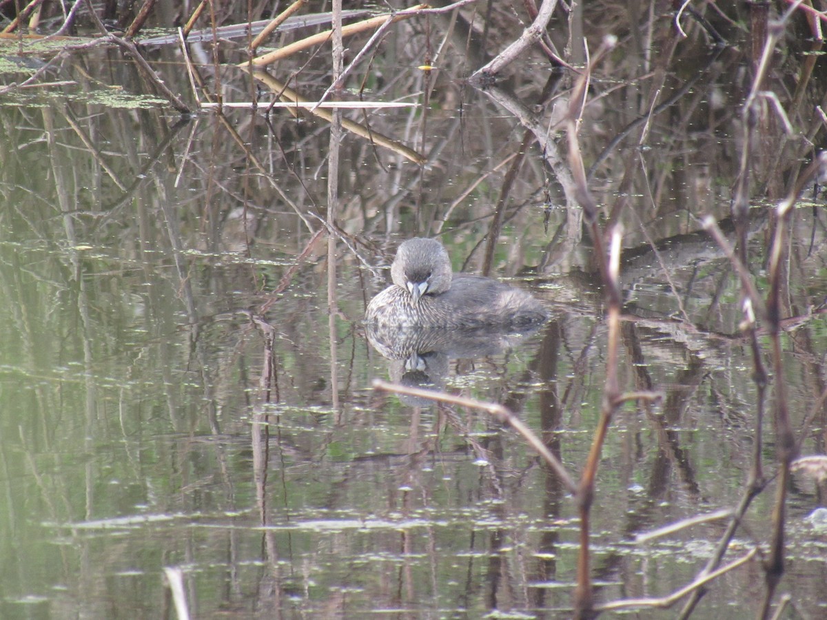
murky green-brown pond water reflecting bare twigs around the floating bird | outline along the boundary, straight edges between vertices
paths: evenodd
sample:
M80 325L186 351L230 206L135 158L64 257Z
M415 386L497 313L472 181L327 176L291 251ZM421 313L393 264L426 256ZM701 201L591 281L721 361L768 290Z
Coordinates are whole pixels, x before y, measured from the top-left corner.
M729 517L638 537L739 504L761 400L738 276L699 222L711 215L729 230L757 37L735 12L748 9L707 9L733 44L718 49L699 21L680 39L672 15L620 4L581 16L592 51L606 33L620 36L593 70L581 149L603 217L624 203L612 216L625 249L619 383L662 401L620 408L600 455L590 523L598 604L665 597L696 579ZM117 45L55 59L2 42L5 85L55 60L33 88L0 95L0 617L174 617L181 599L193 618L571 615L571 494L490 414L374 389L374 379L411 378L406 360L371 346L361 320L400 241L437 236L455 269L481 273L499 219L491 275L529 290L551 317L521 336L461 336L452 355L418 361L448 393L517 413L581 474L609 348L594 245L549 165L557 145L566 166L554 123L575 77L555 83L533 50L496 88L472 88L480 50L503 49L523 27L522 5L492 6L400 21L351 75L342 98L411 105L342 112L399 144L346 126L333 270L327 122L284 108L182 117ZM165 17L155 25L172 23ZM242 23L246 9L222 19ZM473 20L469 36L462 26ZM573 23L552 21L558 50ZM767 97L752 147L748 271L763 295L770 210L824 142L815 105L827 74L819 60L802 77L811 56L801 32L803 17L786 24L763 85L792 131ZM347 40L346 62L368 36ZM195 109L179 47L162 43L146 45L146 59ZM222 41L218 68L207 43L191 54L225 102L275 100L273 83L233 66L244 44ZM581 63L581 51L566 54ZM321 45L269 71L314 100L330 64ZM545 151L497 99L500 86L552 128ZM825 241L810 191L784 259L784 374L772 376L762 428L767 487L724 562L769 553L778 382L801 455L825 453ZM765 326L758 342L769 367ZM825 492L824 479L801 473L787 484L774 599L789 597L784 618L827 613L827 529L815 512ZM764 580L749 560L710 584L696 616L756 616ZM681 604L625 615L672 618Z

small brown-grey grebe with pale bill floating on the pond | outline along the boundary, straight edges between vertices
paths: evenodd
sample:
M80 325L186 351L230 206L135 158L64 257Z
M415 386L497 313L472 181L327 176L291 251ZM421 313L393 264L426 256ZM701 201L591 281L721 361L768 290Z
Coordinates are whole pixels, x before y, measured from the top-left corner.
M546 320L528 293L480 275L453 274L435 239L416 237L396 250L394 280L370 300L369 324L397 327L529 327Z

